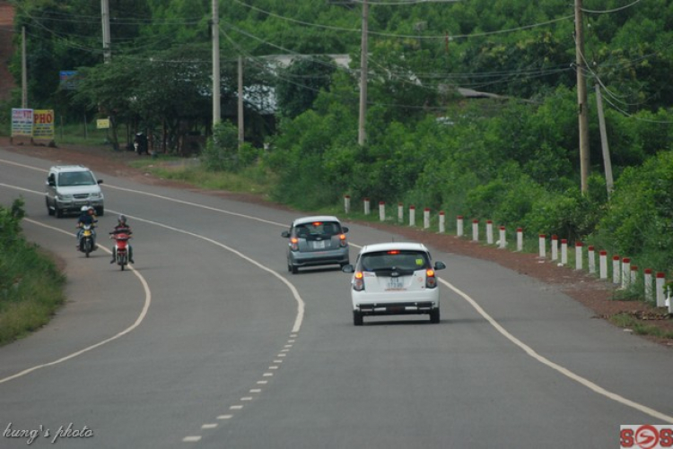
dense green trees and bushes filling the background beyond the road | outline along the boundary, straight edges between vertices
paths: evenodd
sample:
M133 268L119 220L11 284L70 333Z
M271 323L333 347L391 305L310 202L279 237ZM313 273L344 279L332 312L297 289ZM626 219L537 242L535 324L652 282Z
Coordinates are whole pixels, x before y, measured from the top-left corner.
M583 2L585 193L572 2L369 0L361 146L363 2L221 1L223 119L232 124L239 58L244 66L246 144L239 147L232 125L210 125L210 0L109 3L108 65L91 2L17 3L31 73L39 73L30 86L36 104L64 99L58 108L73 115L83 107L111 111L119 124L160 127L176 142L188 132L213 136L203 153L208 168L256 164L278 179L277 200L304 209L337 204L343 194L414 203L533 235L595 241L659 270L673 265L671 0ZM277 55L293 62L285 67ZM329 55L350 56L349 67ZM64 97L57 71L74 67L83 81ZM263 144L266 151L254 150ZM604 145L616 179L609 193Z

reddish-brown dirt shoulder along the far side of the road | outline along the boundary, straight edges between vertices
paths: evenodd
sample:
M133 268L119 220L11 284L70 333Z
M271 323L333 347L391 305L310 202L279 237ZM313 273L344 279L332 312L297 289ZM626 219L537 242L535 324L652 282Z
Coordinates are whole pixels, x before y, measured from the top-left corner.
M52 160L59 164L77 163L86 165L99 174L115 177L126 177L135 182L154 186L173 186L200 191L205 194L236 199L242 202L259 203L268 207L289 210L282 204L269 203L254 194L238 194L223 191L206 191L195 186L154 177L150 173L130 167L131 160L138 156L133 151L112 151L104 147L67 146L66 148L50 148L48 146L31 145L30 142L10 144L9 139L0 137L0 147L9 151L21 152L31 157ZM632 315L638 324L651 325L663 331L673 332L673 320L668 311L652 307L642 301L623 301L615 299L616 288L611 282L600 281L587 272L559 267L549 260L540 259L538 255L522 254L495 246L486 246L465 238L449 234L427 232L422 229L394 226L380 223L361 223L378 229L386 229L404 237L433 246L447 253L468 255L499 263L513 271L530 276L538 281L555 286L571 298L579 301L594 312L594 316L607 319L616 314ZM673 348L673 339L643 337L651 341Z

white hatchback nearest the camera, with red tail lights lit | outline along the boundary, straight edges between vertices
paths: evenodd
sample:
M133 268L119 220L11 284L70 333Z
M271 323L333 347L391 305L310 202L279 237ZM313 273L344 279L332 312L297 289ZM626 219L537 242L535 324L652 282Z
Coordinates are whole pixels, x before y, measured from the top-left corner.
M353 323L363 325L365 315L430 315L440 322L440 289L430 251L420 243L380 243L364 246L355 265L343 272L353 273L351 300Z

